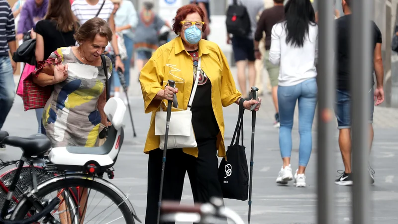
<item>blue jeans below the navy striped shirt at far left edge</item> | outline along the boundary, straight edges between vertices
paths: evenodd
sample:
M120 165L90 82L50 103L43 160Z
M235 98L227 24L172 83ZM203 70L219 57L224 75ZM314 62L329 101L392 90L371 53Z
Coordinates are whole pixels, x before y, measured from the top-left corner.
M15 98L15 83L11 61L8 56L0 57L0 129Z

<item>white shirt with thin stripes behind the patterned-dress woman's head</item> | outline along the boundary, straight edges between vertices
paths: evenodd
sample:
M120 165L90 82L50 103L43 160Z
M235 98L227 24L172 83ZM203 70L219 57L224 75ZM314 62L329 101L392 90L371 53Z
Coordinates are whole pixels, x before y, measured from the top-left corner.
M98 10L100 10L103 1L105 1L105 3L103 4L103 7L98 17L105 21L108 21L113 11L113 3L110 0L99 0L96 5L91 5L87 3L86 0L74 0L72 3L73 14L75 14L80 24L83 24L87 20L96 17L97 12Z

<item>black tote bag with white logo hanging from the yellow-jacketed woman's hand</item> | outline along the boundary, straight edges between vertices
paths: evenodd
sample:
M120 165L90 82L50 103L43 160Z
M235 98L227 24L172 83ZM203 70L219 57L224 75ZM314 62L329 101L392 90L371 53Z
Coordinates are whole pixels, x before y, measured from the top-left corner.
M239 102L238 122L236 123L231 144L226 152L227 161L223 158L218 167L218 180L221 184L223 197L241 201L246 201L249 193L249 172L245 146L243 146L244 101L244 99L241 99ZM240 136L242 137L241 145L239 145Z

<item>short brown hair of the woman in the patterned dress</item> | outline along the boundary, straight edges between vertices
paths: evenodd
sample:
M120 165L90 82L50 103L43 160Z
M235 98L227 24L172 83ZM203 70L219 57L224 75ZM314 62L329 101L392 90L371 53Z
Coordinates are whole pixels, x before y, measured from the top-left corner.
M97 34L106 37L109 42L112 41L113 33L109 24L99 17L94 17L83 23L75 33L74 37L76 41L81 43L85 40L93 41Z

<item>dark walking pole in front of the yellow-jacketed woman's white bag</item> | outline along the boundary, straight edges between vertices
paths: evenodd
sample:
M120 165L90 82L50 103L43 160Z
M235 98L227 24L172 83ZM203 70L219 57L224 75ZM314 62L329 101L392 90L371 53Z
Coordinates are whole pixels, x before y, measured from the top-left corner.
M176 82L173 80L169 80L169 85L173 88L176 87ZM176 95L174 95L176 96ZM176 99L176 98L174 98ZM165 178L165 165L166 165L166 152L167 152L167 142L169 138L169 124L170 124L170 116L171 116L171 108L173 105L173 101L168 101L167 104L167 115L166 115L166 133L165 133L165 146L163 150L163 159L162 159L162 174L160 176L160 190L159 190L159 204L158 204L158 219L157 224L160 222L160 207L162 205L162 193L163 193L163 181Z

